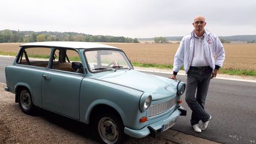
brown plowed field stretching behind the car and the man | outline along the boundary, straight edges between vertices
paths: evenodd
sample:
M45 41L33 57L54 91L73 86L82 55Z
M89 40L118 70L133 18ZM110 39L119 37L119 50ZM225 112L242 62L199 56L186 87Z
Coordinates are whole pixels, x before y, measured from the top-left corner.
M0 52L17 52L21 43L0 43ZM104 43L120 47L132 62L171 64L178 49L178 43ZM256 70L256 44L225 43L226 59L224 69Z

